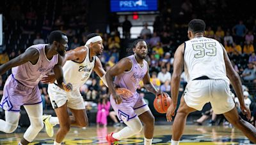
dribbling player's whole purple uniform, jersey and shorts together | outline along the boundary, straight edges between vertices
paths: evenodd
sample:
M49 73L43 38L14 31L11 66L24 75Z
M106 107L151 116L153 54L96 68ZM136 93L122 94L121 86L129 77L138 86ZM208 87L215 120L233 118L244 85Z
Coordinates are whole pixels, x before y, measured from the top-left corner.
M110 97L111 106L118 114L120 121L131 120L137 115L140 115L144 111L147 111L147 104L142 97L136 91L140 81L144 78L148 71L148 64L146 60L143 60L143 66L141 67L134 55L127 57L132 60L132 68L128 72L123 72L115 77L115 85L121 88L127 88L132 92L132 97L128 99L122 99L121 104L116 104L112 95Z

